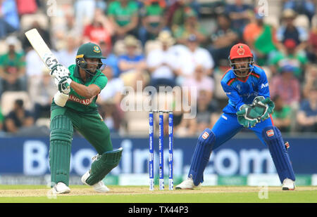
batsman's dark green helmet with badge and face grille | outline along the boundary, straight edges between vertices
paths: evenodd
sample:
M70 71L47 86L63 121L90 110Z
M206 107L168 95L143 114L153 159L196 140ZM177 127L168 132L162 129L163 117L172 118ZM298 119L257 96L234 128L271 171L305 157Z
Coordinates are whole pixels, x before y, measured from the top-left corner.
M106 58L101 55L101 49L99 45L94 43L86 43L82 44L80 48L78 48L77 55L76 55L76 65L81 67L85 72L87 72L90 75L94 75L96 72L92 73L87 69L87 62L85 58L98 58L99 63L97 66L98 70L104 70L104 67L106 67L106 63L104 62Z

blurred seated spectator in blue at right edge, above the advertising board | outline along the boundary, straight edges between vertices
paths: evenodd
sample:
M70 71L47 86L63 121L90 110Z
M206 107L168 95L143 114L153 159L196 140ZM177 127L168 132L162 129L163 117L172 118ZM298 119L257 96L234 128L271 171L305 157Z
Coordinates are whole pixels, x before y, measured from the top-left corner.
M300 105L297 122L300 131L317 132L317 81L311 87L308 98Z

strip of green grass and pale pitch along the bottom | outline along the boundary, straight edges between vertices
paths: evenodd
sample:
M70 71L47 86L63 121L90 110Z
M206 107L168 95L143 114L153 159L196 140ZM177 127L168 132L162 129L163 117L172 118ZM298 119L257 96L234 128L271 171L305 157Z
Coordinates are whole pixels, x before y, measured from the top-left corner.
M317 187L300 186L294 191L268 187L211 186L200 190L154 190L147 186L108 186L111 192L95 193L84 185L70 186L67 195L49 194L38 185L0 185L1 203L316 203ZM47 196L49 195L49 197ZM259 195L261 198L259 198Z

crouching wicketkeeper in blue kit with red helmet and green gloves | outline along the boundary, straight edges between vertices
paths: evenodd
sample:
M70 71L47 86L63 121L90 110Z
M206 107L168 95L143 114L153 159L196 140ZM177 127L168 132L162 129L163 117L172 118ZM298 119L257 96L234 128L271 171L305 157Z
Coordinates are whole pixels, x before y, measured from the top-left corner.
M212 129L205 129L198 138L188 178L176 189L198 188L212 150L230 140L244 127L251 129L268 147L275 164L282 190L294 190L295 176L279 129L271 114L268 80L261 67L254 65L253 54L246 44L235 44L230 50L230 70L221 79L228 96L228 105Z

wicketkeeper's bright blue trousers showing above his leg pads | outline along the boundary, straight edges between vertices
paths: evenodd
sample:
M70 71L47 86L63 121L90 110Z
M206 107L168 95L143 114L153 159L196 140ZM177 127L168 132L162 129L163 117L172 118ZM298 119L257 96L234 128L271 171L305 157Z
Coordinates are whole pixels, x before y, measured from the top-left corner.
M256 136L261 140L261 142L266 145L262 138L262 130L266 126L273 126L273 120L272 118L266 119L264 121L261 121L260 123L256 124L251 131L254 131L256 133ZM243 126L239 124L237 121L237 115L236 114L221 114L220 118L216 122L216 124L213 126L213 133L216 136L216 141L213 145L213 150L215 150L217 147L225 143L226 141L230 140L235 134L239 133L243 129Z

